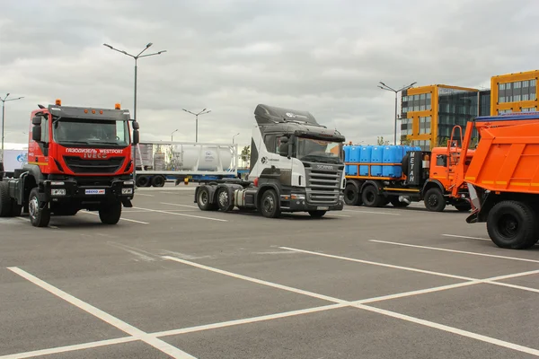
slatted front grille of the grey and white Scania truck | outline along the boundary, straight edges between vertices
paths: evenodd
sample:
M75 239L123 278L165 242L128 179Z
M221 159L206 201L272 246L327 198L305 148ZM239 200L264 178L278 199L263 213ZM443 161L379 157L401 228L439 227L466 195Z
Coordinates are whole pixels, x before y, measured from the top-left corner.
M307 202L334 205L339 202L342 171L322 171L305 168Z

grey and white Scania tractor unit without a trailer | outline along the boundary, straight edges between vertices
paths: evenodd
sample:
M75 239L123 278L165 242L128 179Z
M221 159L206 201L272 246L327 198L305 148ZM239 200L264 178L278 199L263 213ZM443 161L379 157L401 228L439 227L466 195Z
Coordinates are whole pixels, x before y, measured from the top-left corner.
M304 110L260 104L254 110L251 167L247 180L199 185L195 203L203 211L259 210L270 218L283 212L322 217L344 206L343 143L337 130L317 123Z

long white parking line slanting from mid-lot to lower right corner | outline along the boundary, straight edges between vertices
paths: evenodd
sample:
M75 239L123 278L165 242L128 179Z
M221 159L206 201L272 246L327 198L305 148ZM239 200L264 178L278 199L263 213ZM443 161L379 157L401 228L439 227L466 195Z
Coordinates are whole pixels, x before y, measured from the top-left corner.
M397 312L394 312L394 311L386 311L386 310L379 309L379 308L376 308L376 307L371 307L371 306L368 306L368 305L365 305L365 304L358 304L358 303L354 303L354 302L343 301L343 300L340 300L338 298L328 297L328 296L323 295L323 294L304 291L302 289L290 287L290 286L287 286L287 285L278 285L276 283L263 281L263 280L260 280L260 279L252 278L250 276L238 275L238 274L228 272L228 271L225 271L225 270L222 270L222 269L218 269L218 268L215 268L215 267L204 266L204 265L201 265L199 263L190 262L188 260L183 260L183 259L179 259L179 258L173 258L173 257L169 257L169 256L164 256L163 258L174 260L174 261L180 262L182 264L186 264L188 266L199 267L201 269L206 269L206 270L209 270L211 272L223 274L225 276L233 276L235 278L243 279L243 280L246 280L246 281L249 281L249 282L258 283L258 284L261 284L261 285L267 285L267 286L271 286L271 287L278 288L278 289L283 289L283 290L293 292L293 293L301 293L301 294L305 294L305 295L308 295L308 296L311 296L311 297L314 297L314 298L325 299L325 300L328 300L328 301L331 301L331 302L337 302L337 303L340 303L340 304L348 304L351 307L358 308L358 309L361 309L361 310L364 310L364 311L375 312L377 314L392 317L392 318L395 318L395 319L405 320L405 321L409 321L409 322L412 322L412 323L416 323L416 324L422 325L424 327L436 328L438 330L446 331L448 333L453 333L453 334L456 334L456 335L459 335L459 336L462 336L462 337L470 337L470 338L473 338L475 340L479 340L479 341L482 341L482 342L485 342L485 343L490 343L490 344L493 344L493 345L496 345L496 346L503 346L503 347L506 347L508 349L516 350L516 351L519 351L519 352L522 352L522 353L539 356L539 350L536 350L534 348L530 348L530 347L527 347L527 346L520 346L520 345L510 343L510 342L507 342L507 341L504 341L504 340L500 340L500 339L497 339L497 338L494 338L494 337L483 336L481 334L473 333L471 331L467 331L467 330L463 330L463 329L459 329L459 328L449 327L449 326L446 326L444 324L439 324L439 323L436 323L436 322L433 322L433 321L422 320L420 318L411 317L409 315L397 313ZM478 283L481 282L481 280L477 280L477 279L474 279L473 281L478 282Z

